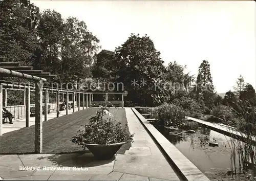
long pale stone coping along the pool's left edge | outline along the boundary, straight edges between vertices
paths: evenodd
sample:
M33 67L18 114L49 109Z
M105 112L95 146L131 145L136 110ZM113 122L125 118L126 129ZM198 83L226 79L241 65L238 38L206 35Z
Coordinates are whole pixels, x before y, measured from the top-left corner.
M172 143L170 143L162 133L160 133L151 123L149 123L137 110L136 108L131 108L134 114L137 116L141 124L145 127L147 132L150 134L152 139L158 144L167 159L176 170L181 174L186 180L205 180L210 181L210 179L200 171L192 162L190 162L186 156L184 156ZM191 173L193 170L194 173Z

